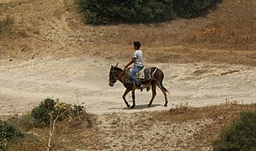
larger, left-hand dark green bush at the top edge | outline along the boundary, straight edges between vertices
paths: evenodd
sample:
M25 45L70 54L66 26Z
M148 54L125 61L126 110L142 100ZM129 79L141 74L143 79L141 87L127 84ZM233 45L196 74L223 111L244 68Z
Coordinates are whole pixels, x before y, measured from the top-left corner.
M87 23L147 23L175 18L173 0L80 0Z

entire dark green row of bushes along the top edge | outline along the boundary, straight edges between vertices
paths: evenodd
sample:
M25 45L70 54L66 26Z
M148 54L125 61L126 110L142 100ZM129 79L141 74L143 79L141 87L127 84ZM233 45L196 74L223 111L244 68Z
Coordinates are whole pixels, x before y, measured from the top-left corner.
M149 23L195 18L219 0L79 0L86 23Z

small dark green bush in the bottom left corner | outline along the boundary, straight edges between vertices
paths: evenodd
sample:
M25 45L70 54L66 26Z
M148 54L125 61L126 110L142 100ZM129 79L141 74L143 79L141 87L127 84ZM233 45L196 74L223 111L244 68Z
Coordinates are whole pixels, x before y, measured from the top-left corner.
M0 150L6 148L9 141L14 138L22 138L24 134L7 122L0 120Z

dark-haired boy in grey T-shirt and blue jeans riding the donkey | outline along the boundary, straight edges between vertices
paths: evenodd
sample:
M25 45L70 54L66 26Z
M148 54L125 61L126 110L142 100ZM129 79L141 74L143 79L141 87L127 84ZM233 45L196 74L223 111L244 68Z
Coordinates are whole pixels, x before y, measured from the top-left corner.
M145 85L141 84L141 81L136 77L136 73L144 68L143 65L143 54L141 51L141 43L139 41L133 42L134 49L136 50L132 55L130 62L125 65L124 70L128 68L129 65L134 63L134 67L131 70L130 76L131 79L135 82L136 86L140 86L141 91L145 88Z

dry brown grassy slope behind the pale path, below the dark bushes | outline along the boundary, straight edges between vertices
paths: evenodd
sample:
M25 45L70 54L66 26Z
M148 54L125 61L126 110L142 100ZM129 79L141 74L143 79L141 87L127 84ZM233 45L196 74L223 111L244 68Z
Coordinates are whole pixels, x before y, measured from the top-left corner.
M202 18L93 27L83 23L72 0L8 0L0 3L0 18L13 18L14 23L0 34L0 57L125 60L132 41L140 40L147 62L255 65L255 6L254 0L223 0Z

